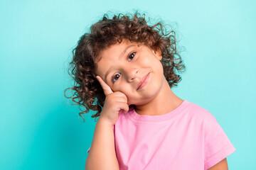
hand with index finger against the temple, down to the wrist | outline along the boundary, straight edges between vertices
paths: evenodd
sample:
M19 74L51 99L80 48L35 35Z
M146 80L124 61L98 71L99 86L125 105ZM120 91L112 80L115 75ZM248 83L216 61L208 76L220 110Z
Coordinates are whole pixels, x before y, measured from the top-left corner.
M114 125L122 111L124 113L129 111L127 96L121 91L113 92L101 77L97 76L96 79L100 82L106 96L100 118L105 119L110 125Z

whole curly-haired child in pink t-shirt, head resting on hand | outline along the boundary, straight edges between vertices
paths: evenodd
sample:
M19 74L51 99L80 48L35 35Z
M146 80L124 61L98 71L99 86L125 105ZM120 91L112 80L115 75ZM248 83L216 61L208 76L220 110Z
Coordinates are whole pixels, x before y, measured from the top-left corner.
M185 67L174 31L106 15L73 50L76 96L98 118L85 169L228 169L235 151L206 109L171 91Z

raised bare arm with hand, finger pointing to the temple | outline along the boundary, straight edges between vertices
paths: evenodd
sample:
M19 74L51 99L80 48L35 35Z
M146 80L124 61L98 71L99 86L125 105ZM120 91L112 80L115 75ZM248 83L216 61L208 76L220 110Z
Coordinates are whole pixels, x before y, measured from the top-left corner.
M85 169L119 170L117 155L114 148L114 124L119 118L119 113L129 111L127 96L121 91L113 92L110 86L99 76L96 77L100 82L106 96L100 118L95 126L95 133L92 138L92 145L88 154Z

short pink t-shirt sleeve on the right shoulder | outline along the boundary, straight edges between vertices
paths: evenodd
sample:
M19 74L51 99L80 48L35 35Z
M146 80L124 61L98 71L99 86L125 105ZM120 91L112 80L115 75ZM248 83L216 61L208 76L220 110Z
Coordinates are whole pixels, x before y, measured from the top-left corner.
M235 147L228 139L223 129L213 115L209 115L204 122L205 161L204 169L218 164L221 160L235 152Z

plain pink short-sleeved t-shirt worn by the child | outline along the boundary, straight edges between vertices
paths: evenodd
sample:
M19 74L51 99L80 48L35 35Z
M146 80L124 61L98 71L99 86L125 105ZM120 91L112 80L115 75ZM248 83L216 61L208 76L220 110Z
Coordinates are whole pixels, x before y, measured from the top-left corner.
M235 151L206 109L184 100L164 115L130 108L114 125L119 169L209 169Z

